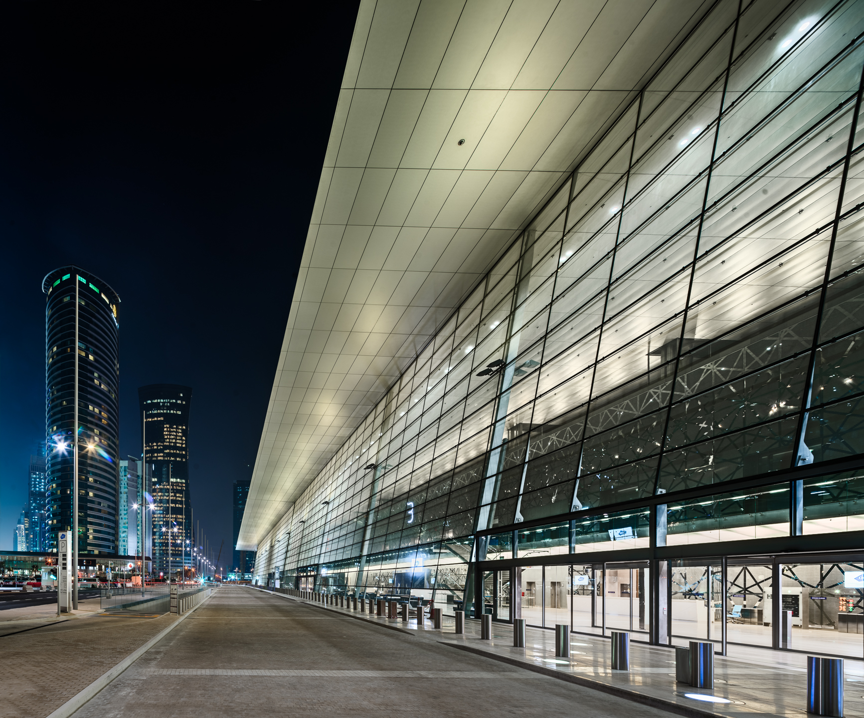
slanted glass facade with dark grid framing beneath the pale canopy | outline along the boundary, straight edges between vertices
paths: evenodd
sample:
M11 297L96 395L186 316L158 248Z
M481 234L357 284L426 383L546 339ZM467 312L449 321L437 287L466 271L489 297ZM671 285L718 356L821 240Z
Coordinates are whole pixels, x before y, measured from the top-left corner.
M257 580L671 637L657 587L696 578L651 551L861 526L862 31L861 3L716 3L259 544Z

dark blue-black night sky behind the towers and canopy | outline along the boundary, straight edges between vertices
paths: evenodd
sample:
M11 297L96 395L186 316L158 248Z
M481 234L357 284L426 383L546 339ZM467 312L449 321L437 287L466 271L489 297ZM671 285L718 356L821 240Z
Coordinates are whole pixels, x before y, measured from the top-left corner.
M298 7L0 4L0 549L45 437L41 279L78 264L121 299L121 458L137 388L191 386L194 516L231 550L356 17Z

